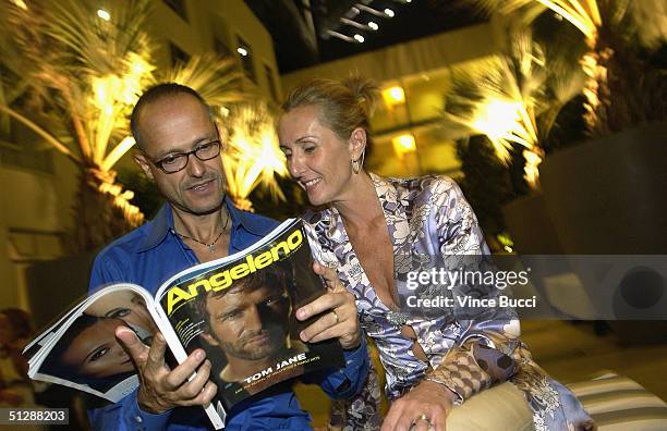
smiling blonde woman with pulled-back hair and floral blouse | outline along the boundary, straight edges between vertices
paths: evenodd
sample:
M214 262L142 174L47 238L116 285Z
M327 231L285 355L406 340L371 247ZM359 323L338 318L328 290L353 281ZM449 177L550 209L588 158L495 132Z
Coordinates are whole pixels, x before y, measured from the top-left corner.
M319 258L338 267L380 352L392 401L383 429L444 430L452 405L507 380L524 392L536 429L592 429L577 398L532 360L512 310L460 319L458 309L407 307L411 272L434 261L450 271L481 269L489 251L450 178L364 171L376 95L368 82L315 79L288 97L279 137L290 174L324 208L304 216Z

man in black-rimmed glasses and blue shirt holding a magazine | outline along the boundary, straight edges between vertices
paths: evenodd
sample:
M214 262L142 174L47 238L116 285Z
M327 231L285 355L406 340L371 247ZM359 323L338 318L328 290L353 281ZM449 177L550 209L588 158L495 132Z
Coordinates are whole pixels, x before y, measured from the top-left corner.
M133 282L155 293L174 273L198 262L240 251L260 239L277 222L243 212L225 196L220 159L222 143L202 97L189 87L161 84L147 90L131 119L140 152L135 161L154 180L167 205L156 218L105 248L95 259L90 290L110 282ZM296 310L300 320L329 310L301 333L304 342L338 337L345 368L319 382L332 397L354 394L368 368L356 319L354 297L333 271L315 264L328 293ZM119 328L119 342L140 374L137 391L119 403L90 410L95 429L210 428L201 407L216 394L208 380L210 362L196 349L178 367L165 364L165 337L156 333L150 347L133 331ZM187 378L196 371L192 381ZM298 407L291 389L239 403L228 412L227 428L310 429L310 416ZM195 407L192 407L195 406Z

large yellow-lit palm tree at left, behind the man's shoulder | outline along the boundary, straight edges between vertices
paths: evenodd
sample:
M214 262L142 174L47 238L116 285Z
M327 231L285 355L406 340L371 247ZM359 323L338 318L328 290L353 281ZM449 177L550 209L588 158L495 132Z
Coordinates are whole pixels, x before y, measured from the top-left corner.
M11 118L80 169L74 241L68 243L94 248L143 221L111 168L134 144L126 116L151 79L142 30L147 2L120 2L112 22L73 0L14 1L7 9L2 46L12 52L2 56L8 72L0 111L5 125Z

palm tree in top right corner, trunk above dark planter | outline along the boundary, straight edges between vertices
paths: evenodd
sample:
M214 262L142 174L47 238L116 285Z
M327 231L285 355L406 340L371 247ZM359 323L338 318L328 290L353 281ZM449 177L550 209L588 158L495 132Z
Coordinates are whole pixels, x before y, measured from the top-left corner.
M664 0L463 0L487 12L519 11L531 22L549 10L578 28L587 52L581 65L587 76L586 124L592 136L662 120L667 113L664 72L636 54L667 40Z

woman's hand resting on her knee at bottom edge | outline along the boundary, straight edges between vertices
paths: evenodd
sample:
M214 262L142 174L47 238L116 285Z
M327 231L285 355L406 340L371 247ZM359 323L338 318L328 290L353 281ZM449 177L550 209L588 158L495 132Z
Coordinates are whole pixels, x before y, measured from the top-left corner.
M422 381L389 407L381 431L445 431L454 394L444 385ZM411 428L414 423L414 428Z

